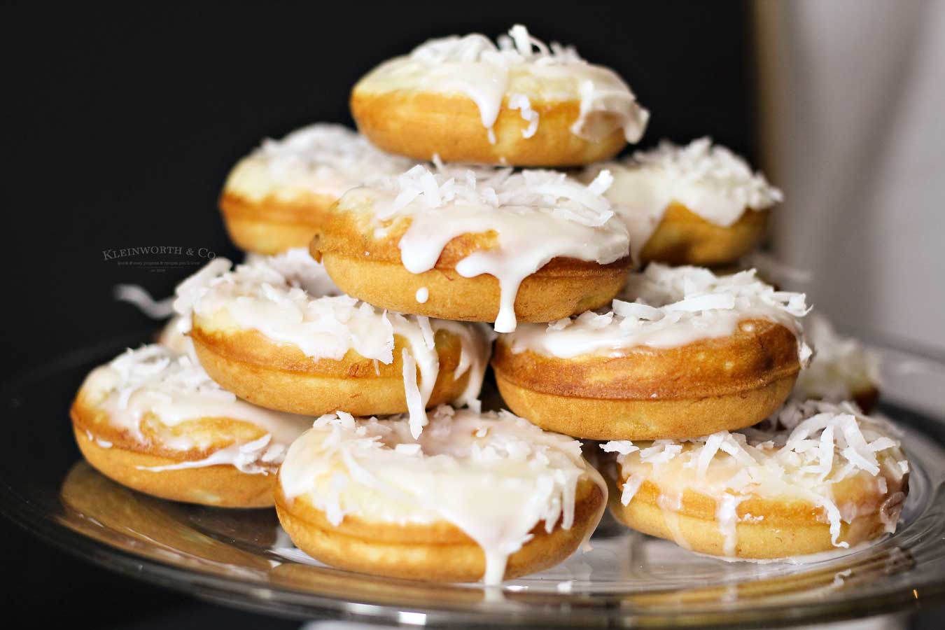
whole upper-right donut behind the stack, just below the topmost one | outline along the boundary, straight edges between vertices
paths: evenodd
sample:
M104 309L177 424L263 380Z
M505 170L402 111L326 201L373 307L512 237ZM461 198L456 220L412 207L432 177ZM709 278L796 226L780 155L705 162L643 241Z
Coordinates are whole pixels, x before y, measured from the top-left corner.
M613 175L606 195L641 264L733 264L758 246L767 209L782 200L764 175L709 138L686 146L662 142L623 162L590 166L582 179L601 169Z

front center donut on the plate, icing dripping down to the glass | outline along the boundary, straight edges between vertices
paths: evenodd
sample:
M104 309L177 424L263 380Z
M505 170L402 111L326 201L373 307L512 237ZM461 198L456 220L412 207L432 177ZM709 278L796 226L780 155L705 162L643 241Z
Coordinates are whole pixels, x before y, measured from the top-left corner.
M506 411L318 418L289 448L276 510L302 551L347 570L497 584L591 536L607 488L580 443Z

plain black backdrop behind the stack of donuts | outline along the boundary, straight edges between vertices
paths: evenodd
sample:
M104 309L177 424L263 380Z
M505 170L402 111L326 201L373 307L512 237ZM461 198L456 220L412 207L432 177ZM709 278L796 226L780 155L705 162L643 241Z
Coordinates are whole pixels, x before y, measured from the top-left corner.
M0 251L8 324L0 376L153 326L112 301L113 284L140 283L162 297L193 267L152 272L106 261L103 251L205 247L237 255L215 210L232 163L265 136L315 121L350 124L354 81L429 37L496 35L521 22L625 77L652 112L644 145L710 134L754 155L747 5L557 4L4 9ZM36 430L66 431L65 409L36 418ZM113 577L6 521L0 553L14 577L0 613L9 627L65 618L146 627L141 620L166 619L156 616L180 606L186 612L176 624L213 627L225 614Z

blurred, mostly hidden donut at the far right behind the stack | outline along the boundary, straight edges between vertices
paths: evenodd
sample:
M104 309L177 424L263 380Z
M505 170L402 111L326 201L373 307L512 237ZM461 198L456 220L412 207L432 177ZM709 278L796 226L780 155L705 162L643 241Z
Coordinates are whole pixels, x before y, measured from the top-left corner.
M826 315L811 314L804 330L816 352L810 365L800 370L792 397L853 400L868 414L880 397L879 357L856 339L834 331Z

